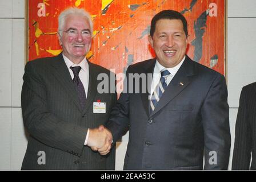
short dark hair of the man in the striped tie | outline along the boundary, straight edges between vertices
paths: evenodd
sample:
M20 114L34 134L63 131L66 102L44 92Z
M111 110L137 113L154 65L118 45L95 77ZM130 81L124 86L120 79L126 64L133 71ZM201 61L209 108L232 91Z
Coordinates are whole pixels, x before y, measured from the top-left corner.
M178 11L174 11L174 10L163 10L160 11L158 14L156 14L153 19L151 20L151 27L150 27L150 35L153 37L154 32L155 32L155 24L157 24L157 21L160 19L180 19L182 21L183 24L183 30L186 34L186 36L188 35L187 33L187 20L185 19L185 17L179 13Z

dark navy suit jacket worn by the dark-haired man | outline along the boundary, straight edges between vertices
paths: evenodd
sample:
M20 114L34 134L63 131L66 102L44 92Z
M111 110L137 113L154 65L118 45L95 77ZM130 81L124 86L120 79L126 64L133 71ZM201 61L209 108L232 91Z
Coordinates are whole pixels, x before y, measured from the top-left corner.
M130 65L127 74L153 73L155 62ZM148 96L122 93L107 122L114 141L129 126L124 169L202 169L203 154L205 169L227 169L229 105L221 74L186 56L153 113ZM209 163L214 162L211 151L217 154L216 164Z

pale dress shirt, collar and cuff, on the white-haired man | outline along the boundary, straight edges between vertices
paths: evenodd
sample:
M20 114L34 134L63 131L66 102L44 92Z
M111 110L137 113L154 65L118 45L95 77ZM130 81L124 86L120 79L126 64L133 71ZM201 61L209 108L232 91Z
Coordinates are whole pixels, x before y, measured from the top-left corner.
M87 59L85 57L85 59L83 59L81 61L81 63L79 64L74 64L69 58L67 58L64 54L63 55L63 59L67 65L67 68L69 68L69 73L70 73L70 76L73 80L74 78L74 73L73 71L70 69L70 67L78 67L80 66L82 69L81 71L79 72L79 78L83 84L83 88L85 88L85 94L86 94L86 97L87 97L87 94L88 94L88 87L89 87L89 64L87 62ZM90 130L88 129L87 130L87 135L86 135L86 139L85 139L85 146L87 144L87 140L88 140L88 137L89 137L89 132Z

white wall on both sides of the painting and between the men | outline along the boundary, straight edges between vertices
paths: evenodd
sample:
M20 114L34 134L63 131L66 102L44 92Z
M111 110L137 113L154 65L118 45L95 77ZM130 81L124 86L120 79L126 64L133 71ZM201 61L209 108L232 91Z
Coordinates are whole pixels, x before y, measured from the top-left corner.
M227 83L233 154L234 127L242 86L256 81L256 1L230 0L227 20ZM27 138L21 115L25 65L25 0L0 0L0 169L20 169ZM121 170L129 134L118 142L116 169ZM230 156L230 165L231 165Z

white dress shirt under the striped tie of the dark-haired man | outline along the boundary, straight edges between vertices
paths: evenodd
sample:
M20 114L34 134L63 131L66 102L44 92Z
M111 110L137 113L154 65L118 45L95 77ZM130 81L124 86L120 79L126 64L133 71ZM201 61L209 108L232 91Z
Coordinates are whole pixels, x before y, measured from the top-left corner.
M161 78L161 71L163 69L167 69L171 74L166 77L166 84L167 86L170 84L171 80L173 80L173 77L176 75L178 72L179 68L181 68L182 63L185 61L186 56L183 57L181 60L181 63L176 65L173 68L165 68L163 67L157 60L157 63L155 63L155 68L153 72L153 78L152 78L152 85L151 85L151 91L150 91L150 98L152 97L152 94L154 93L155 88L157 87L160 78Z

